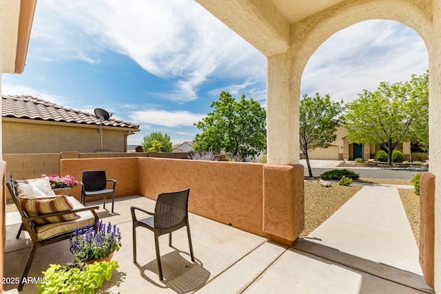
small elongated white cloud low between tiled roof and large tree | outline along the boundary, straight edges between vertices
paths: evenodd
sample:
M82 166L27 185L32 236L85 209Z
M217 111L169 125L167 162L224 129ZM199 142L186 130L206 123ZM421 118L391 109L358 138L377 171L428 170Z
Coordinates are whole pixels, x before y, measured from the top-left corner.
M139 123L161 125L164 127L189 127L201 120L205 114L194 114L187 111L168 112L161 109L150 109L132 112L129 117Z

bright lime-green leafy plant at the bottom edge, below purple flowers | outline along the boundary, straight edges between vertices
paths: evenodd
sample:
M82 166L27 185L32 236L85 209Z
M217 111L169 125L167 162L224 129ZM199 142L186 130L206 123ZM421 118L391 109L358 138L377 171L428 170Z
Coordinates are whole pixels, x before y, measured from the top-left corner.
M50 264L49 269L43 271L43 282L36 284L37 294L50 293L95 293L95 289L103 285L104 280L112 278L112 271L119 268L118 262L83 262L68 263L66 265Z

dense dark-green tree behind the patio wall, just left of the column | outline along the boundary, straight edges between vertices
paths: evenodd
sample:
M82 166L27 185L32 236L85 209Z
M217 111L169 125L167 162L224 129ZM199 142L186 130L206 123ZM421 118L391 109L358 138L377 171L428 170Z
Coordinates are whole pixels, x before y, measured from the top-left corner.
M266 112L257 101L245 99L244 94L236 101L223 91L210 107L214 110L194 124L202 130L194 137L194 149L214 153L225 149L242 158L256 156L266 149Z

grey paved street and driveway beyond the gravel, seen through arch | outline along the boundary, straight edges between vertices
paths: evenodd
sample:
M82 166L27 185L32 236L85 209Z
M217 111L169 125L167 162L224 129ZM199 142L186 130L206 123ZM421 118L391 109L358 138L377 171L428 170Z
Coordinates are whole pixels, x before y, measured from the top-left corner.
M349 169L360 174L360 178L387 178L399 180L411 180L413 176L422 172L421 170L407 170L394 168L380 168L380 167L329 167L334 160L309 160L311 163L312 175L320 176L325 171L331 169ZM305 176L309 176L306 161L300 160L302 165L305 165Z

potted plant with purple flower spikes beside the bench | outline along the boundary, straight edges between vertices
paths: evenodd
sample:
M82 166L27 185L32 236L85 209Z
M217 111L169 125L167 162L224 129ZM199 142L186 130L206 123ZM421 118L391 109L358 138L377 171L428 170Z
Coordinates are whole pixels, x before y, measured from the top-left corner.
M107 258L113 251L121 248L121 232L116 224L103 221L96 224L96 230L90 225L76 227L70 236L70 252L74 253L77 262L88 262Z

